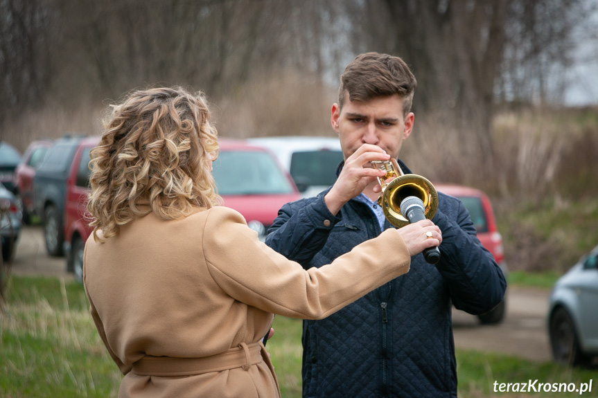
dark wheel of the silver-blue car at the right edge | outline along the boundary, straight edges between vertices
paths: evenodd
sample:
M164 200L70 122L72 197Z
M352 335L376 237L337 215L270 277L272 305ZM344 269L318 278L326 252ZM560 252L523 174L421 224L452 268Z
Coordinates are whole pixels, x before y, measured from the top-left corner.
M583 353L579 348L575 325L563 307L555 309L550 318L549 337L554 361L565 365L583 363Z

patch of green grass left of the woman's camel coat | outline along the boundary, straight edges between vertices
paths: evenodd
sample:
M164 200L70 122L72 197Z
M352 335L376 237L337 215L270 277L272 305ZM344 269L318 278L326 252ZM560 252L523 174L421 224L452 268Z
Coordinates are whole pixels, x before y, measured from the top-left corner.
M1 397L114 397L120 374L81 284L9 278L0 315Z

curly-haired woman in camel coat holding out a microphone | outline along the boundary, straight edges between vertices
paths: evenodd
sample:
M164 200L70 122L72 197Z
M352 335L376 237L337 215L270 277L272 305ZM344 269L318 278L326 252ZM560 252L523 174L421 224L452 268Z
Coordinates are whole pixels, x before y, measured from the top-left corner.
M420 221L305 271L220 206L217 153L206 99L180 87L127 95L91 151L85 291L119 397L280 397L261 343L273 314L324 318L441 241Z

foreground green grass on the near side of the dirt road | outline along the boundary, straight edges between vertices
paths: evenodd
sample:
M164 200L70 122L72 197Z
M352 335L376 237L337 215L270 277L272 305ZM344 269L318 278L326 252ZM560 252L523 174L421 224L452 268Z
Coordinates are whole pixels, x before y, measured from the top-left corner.
M517 275L517 274L516 274ZM522 277L523 278L523 277ZM55 278L12 277L0 315L0 397L116 397L121 374L89 316L82 285ZM301 320L276 316L267 343L282 396L301 397ZM579 393L493 392L493 383L588 383L596 370L457 350L459 397L573 397Z

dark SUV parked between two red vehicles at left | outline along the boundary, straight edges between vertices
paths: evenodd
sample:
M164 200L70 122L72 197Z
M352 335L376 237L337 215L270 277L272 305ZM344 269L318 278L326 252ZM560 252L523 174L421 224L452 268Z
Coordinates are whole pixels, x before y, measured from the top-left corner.
M66 136L55 141L39 165L33 179L35 214L44 223L46 250L50 255L64 253L64 203L67 179L83 136Z

